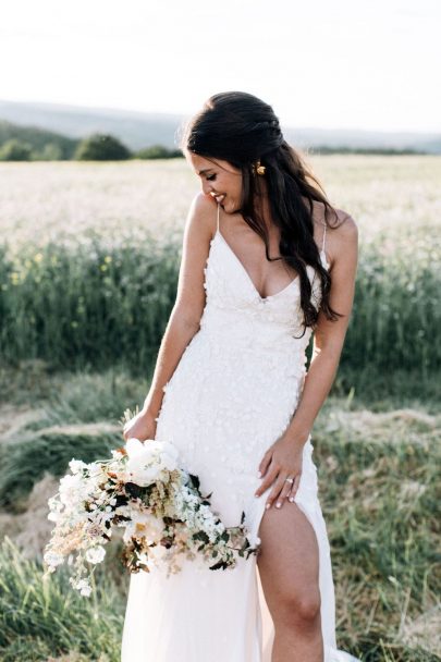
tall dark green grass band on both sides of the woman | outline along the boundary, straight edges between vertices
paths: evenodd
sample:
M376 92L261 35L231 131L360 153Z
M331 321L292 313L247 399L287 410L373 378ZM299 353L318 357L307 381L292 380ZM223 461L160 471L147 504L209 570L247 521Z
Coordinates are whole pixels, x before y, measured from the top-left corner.
M107 246L0 250L0 355L41 358L54 369L154 366L175 298L175 238ZM441 365L441 241L415 231L379 233L360 247L354 309L341 369L429 380Z

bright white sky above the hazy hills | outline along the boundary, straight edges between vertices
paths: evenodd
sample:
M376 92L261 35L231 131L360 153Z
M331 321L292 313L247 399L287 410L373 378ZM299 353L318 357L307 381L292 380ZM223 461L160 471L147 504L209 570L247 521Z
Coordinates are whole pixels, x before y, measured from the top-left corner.
M2 0L0 99L441 132L440 0Z

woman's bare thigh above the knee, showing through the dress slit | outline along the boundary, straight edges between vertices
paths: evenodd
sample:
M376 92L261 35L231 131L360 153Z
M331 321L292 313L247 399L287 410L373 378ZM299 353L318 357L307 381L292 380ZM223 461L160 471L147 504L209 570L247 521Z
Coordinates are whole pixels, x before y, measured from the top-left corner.
M258 534L257 564L274 622L286 616L314 617L320 606L319 549L316 532L294 503L265 512Z

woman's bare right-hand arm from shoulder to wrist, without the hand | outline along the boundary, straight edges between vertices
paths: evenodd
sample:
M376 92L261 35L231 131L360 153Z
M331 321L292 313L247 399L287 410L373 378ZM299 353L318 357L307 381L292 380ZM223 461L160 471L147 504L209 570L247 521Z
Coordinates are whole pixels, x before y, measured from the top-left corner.
M335 232L328 233L334 255L330 305L341 312L338 321L330 321L319 312L314 335L313 357L301 400L284 437L303 445L329 393L339 367L344 339L354 302L358 261L358 229L354 219L345 219Z

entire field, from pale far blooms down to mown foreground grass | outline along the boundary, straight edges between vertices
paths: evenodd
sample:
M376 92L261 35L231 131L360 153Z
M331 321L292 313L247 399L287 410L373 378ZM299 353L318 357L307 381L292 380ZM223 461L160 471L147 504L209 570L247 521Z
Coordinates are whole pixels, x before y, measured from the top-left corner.
M314 428L341 648L441 660L441 158L309 156L359 229L341 366ZM0 163L0 659L117 662L118 542L91 601L41 580L47 499L121 444L173 305L200 184L183 159Z

